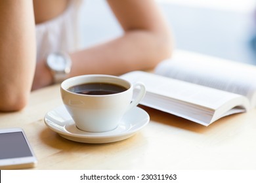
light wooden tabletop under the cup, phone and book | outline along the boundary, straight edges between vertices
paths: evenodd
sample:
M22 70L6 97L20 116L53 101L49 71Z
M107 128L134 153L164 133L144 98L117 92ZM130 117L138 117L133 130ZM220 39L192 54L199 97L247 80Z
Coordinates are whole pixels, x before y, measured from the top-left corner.
M204 127L140 106L150 123L139 133L124 141L85 144L45 125L45 114L60 105L55 85L32 92L24 110L0 113L0 128L24 129L38 159L34 169L256 169L255 108Z

